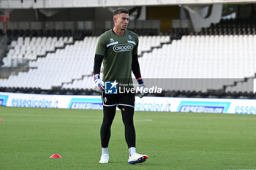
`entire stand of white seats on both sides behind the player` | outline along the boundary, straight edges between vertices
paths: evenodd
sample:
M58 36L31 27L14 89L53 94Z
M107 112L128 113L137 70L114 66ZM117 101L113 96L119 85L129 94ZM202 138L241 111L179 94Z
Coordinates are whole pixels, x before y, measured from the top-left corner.
M254 76L256 35L182 36L171 43L169 39L170 36L140 36L139 62L144 79L158 79L165 90L206 92L221 89L223 85L227 85L227 92L233 92L241 85L248 89L245 82L229 85L233 85L234 79ZM0 80L0 85L41 89L93 88L97 37L86 36L83 41L67 45L70 42L72 39L67 37L18 38L11 43L4 66L14 66L25 58L30 60L31 69ZM52 53L37 58L47 51ZM188 79L194 82L179 82ZM165 83L167 80L170 82Z

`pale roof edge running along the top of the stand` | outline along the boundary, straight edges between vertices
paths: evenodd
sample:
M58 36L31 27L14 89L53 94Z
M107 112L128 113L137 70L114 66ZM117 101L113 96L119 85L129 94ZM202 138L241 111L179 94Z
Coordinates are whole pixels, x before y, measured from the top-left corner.
M255 0L1 0L0 9L256 3Z

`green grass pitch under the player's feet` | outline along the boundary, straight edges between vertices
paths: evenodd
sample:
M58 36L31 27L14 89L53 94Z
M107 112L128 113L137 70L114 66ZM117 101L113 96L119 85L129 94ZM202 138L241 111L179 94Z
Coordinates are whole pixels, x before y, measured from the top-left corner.
M108 164L98 163L102 110L0 107L0 118L1 170L256 169L256 115L135 112L137 151L148 155L136 165L120 111Z

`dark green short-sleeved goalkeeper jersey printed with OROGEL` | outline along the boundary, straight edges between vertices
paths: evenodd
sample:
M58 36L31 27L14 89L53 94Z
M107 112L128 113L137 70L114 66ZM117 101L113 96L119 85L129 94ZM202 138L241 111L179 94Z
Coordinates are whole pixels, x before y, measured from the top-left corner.
M129 30L122 36L112 29L99 36L96 54L104 56L104 82L132 83L132 55L138 53L138 43L138 35Z

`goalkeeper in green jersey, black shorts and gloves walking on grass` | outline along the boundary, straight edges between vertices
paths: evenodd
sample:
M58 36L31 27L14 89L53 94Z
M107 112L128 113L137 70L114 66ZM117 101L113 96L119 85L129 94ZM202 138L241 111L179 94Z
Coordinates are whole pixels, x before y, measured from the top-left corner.
M135 109L134 93L105 93L104 82L118 82L131 88L132 72L141 87L143 80L140 75L138 63L138 36L127 30L129 23L129 10L116 9L113 12L113 29L99 36L94 58L94 89L102 92L103 122L100 129L102 156L99 163L108 163L108 143L110 140L110 127L116 115L116 107L121 109L122 120L125 126L125 139L129 148L129 164L142 163L148 158L135 149L135 127L133 115ZM100 67L103 61L103 81L100 79ZM117 83L116 83L117 84ZM112 84L115 86L116 84ZM140 94L142 97L144 94Z

